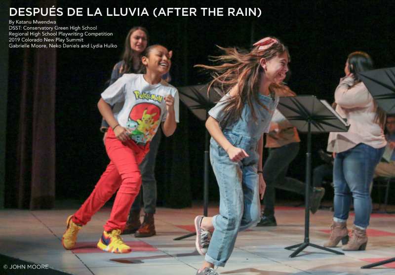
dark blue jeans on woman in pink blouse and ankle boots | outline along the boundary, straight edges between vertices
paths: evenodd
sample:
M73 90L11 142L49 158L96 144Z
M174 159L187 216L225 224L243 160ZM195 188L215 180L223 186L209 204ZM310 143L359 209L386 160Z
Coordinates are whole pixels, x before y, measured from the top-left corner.
M374 168L380 161L384 148L375 149L363 143L345 152L337 153L333 165L335 188L335 222L346 222L349 217L351 199L354 198L354 225L366 229L372 212L370 183Z

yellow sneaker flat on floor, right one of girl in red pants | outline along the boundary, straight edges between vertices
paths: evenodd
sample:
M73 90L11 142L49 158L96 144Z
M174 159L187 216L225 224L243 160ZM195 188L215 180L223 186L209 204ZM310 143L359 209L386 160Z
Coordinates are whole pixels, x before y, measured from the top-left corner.
M120 229L114 229L111 232L104 231L97 247L111 253L129 253L132 249L123 242L120 233Z

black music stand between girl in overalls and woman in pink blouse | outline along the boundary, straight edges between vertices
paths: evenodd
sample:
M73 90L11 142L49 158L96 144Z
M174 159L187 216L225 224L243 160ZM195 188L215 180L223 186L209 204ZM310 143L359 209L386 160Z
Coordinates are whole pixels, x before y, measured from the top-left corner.
M307 132L307 153L306 153L306 193L305 193L305 239L302 243L285 247L285 249L297 248L290 258L296 257L303 249L312 246L328 252L344 255L344 253L329 249L323 246L310 243L310 186L312 174L312 132L347 132L349 126L330 105L322 100L318 100L314 95L282 97L277 106L278 111L298 128L301 132Z

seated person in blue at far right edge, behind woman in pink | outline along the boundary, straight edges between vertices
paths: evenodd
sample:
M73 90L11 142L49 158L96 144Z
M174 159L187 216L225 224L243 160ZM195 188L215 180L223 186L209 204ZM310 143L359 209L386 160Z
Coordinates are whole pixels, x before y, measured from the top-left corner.
M389 157L383 161L382 160L377 164L376 169L374 170L374 177L395 177L395 114L387 115L386 121L386 139L387 139L387 147L384 152L383 158L386 158L386 155ZM387 154L387 152L389 154ZM392 152L392 155L390 155ZM390 157L391 156L391 157Z

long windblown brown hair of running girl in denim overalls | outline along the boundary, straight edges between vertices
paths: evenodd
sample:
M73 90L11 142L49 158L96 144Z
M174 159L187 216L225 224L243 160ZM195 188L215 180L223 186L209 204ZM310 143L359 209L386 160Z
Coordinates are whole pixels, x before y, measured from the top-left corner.
M207 93L212 86L219 87L223 94L229 92L233 87L237 87L237 95L230 97L224 107L226 115L221 121L221 126L224 128L229 123L241 118L245 103L248 103L252 118L256 121L257 116L253 102L257 102L266 109L266 106L258 99L259 83L263 72L260 60L262 58L271 60L284 52L287 53L289 59L288 49L278 39L265 50L259 50L259 46L252 48L249 52L235 47L223 48L218 46L218 48L224 51L224 54L211 57L211 61L222 64L214 66L199 64L195 67L211 71L213 79L208 86Z

